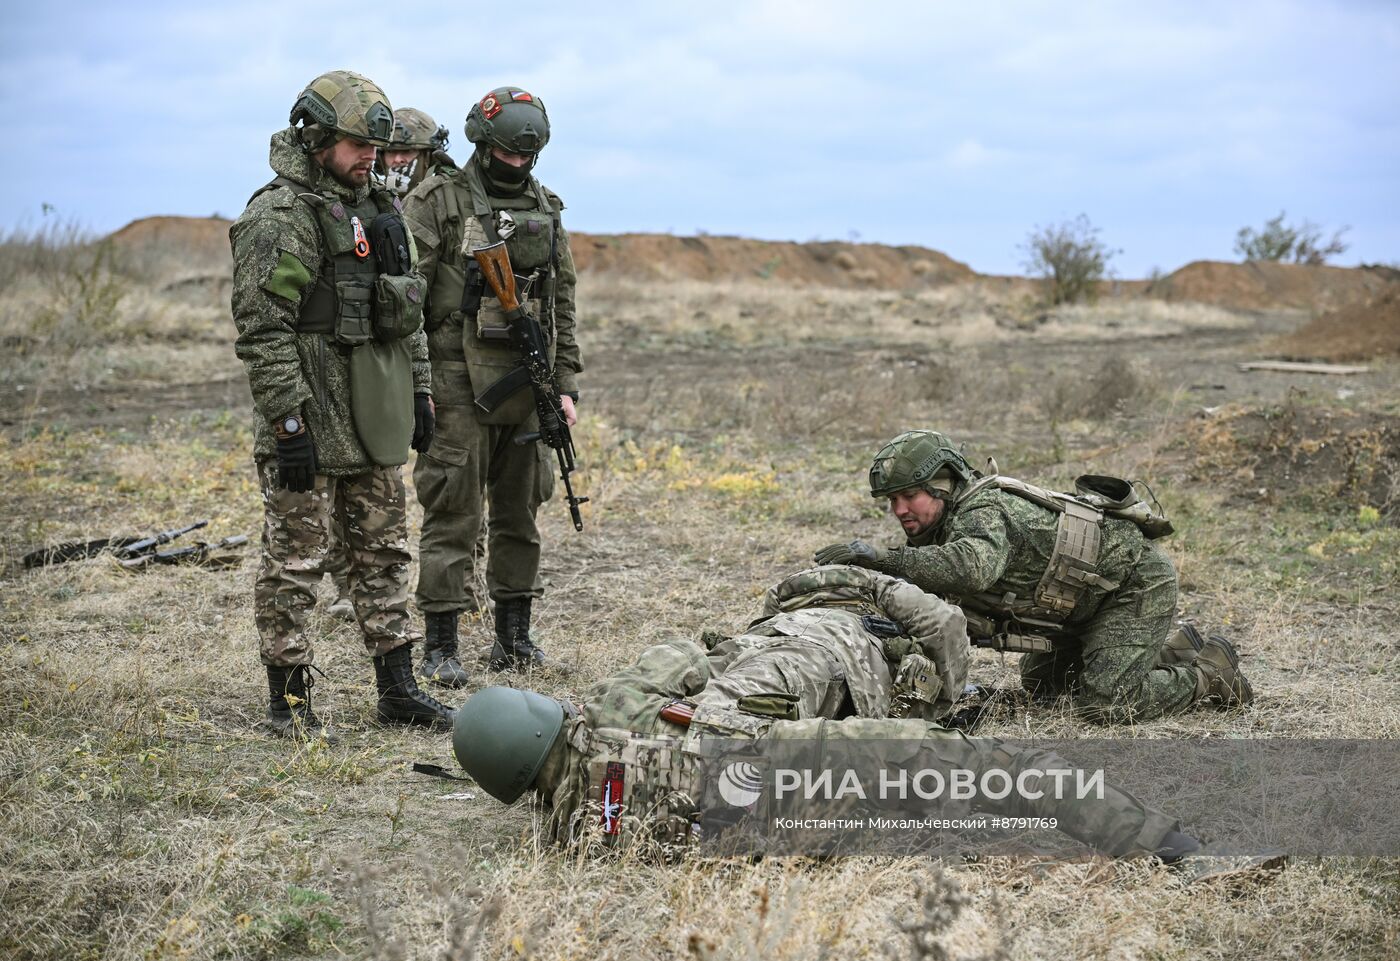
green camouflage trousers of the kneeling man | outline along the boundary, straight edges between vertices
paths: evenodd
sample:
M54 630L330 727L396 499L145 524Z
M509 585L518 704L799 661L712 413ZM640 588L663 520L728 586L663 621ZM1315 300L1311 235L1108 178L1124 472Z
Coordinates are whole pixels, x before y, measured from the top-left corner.
M1158 667L1176 618L1176 569L1147 542L1137 566L1075 637L1049 654L1023 654L1021 682L1037 696L1070 693L1085 720L1149 721L1180 713L1196 699L1196 671Z

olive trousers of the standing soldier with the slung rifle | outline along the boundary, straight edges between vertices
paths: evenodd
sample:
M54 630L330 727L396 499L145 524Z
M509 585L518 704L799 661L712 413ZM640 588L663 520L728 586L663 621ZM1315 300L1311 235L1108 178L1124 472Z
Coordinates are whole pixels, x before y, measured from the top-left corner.
M437 366L434 367L437 371ZM440 403L428 454L413 466L423 504L417 604L427 614L473 611L473 580L483 527L486 588L491 600L539 597L539 528L535 514L553 493L540 444L517 444L519 424L482 424L472 408Z

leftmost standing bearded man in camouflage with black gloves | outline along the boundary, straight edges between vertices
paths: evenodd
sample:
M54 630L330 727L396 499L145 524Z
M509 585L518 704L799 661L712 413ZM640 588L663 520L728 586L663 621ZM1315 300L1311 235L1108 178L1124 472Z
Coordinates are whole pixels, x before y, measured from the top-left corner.
M311 706L308 611L332 531L374 658L378 714L451 723L419 691L407 614L407 517L400 465L433 438L421 331L423 279L399 203L368 186L392 112L365 77L335 70L297 98L272 137L276 178L230 228L235 350L256 417L263 553L253 590L267 668L267 721L281 734L321 727Z

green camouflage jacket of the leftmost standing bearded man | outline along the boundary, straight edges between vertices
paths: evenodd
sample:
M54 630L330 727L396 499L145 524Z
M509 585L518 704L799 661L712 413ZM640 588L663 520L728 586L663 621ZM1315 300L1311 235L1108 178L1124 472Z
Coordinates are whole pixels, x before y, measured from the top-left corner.
M293 140L291 129L272 137L269 155L279 177L333 191L347 203L360 203L368 188L340 185L316 167ZM277 452L272 423L300 410L316 447L316 472L363 473L374 466L356 436L350 415L347 354L321 333L298 333L302 303L325 268L322 235L311 206L291 188L259 193L228 230L234 251L234 349L248 370L258 413L253 455ZM423 331L409 340L413 389L431 392L431 368Z

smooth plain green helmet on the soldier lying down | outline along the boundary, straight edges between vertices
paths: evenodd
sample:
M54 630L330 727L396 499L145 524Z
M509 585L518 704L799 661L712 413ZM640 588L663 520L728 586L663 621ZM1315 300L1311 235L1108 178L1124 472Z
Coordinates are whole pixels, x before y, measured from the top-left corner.
M533 691L483 688L452 723L452 754L487 794L514 804L535 783L564 726L557 700Z

